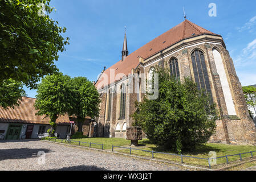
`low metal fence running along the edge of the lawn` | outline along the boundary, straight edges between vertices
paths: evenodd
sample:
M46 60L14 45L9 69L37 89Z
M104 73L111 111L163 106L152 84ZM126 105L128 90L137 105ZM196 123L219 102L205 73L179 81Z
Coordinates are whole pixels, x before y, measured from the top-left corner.
M82 141L75 141L75 140L66 140L66 139L56 139L56 138L50 138L50 137L46 137L46 138L42 138L43 140L54 140L54 142L61 142L61 143L77 143L78 146L82 146L83 143L86 143L87 144L87 147L90 147L90 148L98 148L98 147L92 147L92 144L96 145L96 146L100 146L101 150L104 150L103 148L103 143L102 144L99 144L99 143L91 143L91 142L82 142ZM149 150L142 150L142 149L139 149L139 148L132 148L132 147L120 147L120 146L114 146L112 145L112 148L111 148L111 151L114 152L114 148L121 148L121 149L124 149L124 150L129 150L129 154L132 155L132 151L143 151L143 152L147 152L151 155L151 158L155 158L155 154L163 154L163 155L169 155L169 156L176 156L177 158L179 158L179 162L181 162L182 164L184 164L184 159L185 158L190 158L190 159L197 159L197 160L204 160L206 163L208 163L207 166L205 165L201 165L201 166L205 166L205 167L209 167L210 169L213 167L213 166L218 166L220 164L214 164L212 161L214 159L225 159L225 162L224 163L221 163L221 164L230 164L231 162L235 162L235 161L242 161L243 159L248 159L248 157L242 157L242 155L246 155L246 154L250 154L250 157L251 159L254 159L254 155L253 153L256 152L256 151L250 151L250 152L243 152L243 153L239 153L239 154L233 154L233 155L225 155L225 156L219 156L219 157L216 157L216 158L198 158L196 156L189 156L189 155L182 155L182 154L171 154L171 153L166 153L166 152L157 152L157 151L149 151ZM239 156L239 160L229 160L229 157L231 156ZM174 160L174 161L178 161L178 160Z

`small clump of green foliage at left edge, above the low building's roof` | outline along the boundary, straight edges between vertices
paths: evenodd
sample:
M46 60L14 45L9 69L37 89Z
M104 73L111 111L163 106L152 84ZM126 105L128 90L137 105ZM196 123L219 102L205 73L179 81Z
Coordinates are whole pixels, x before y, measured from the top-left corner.
M3 109L18 106L22 97L26 96L22 83L13 79L3 80L0 85L0 106Z

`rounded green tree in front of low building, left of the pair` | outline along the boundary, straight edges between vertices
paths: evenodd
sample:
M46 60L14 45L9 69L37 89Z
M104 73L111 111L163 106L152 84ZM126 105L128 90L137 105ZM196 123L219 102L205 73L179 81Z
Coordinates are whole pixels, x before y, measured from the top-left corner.
M38 115L50 118L50 135L55 133L56 119L72 110L74 106L74 89L70 85L70 76L58 73L48 75L38 85L35 108Z

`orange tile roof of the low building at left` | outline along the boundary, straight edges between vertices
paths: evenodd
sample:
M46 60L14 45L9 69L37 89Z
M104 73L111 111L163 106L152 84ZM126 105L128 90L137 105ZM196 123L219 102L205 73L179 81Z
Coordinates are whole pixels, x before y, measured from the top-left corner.
M35 100L35 98L22 97L21 104L14 109L5 110L0 107L0 122L49 124L50 118L45 115L35 115L38 111L34 107ZM69 122L68 115L60 115L56 120L59 125L66 125Z

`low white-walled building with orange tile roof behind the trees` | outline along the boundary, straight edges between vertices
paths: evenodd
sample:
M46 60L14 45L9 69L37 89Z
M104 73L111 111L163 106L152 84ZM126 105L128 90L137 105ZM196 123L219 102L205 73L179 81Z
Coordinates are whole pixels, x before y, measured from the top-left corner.
M48 137L50 118L36 115L35 98L22 97L19 106L9 109L0 107L0 139L36 139ZM60 115L56 121L56 133L66 138L70 129L68 115Z

